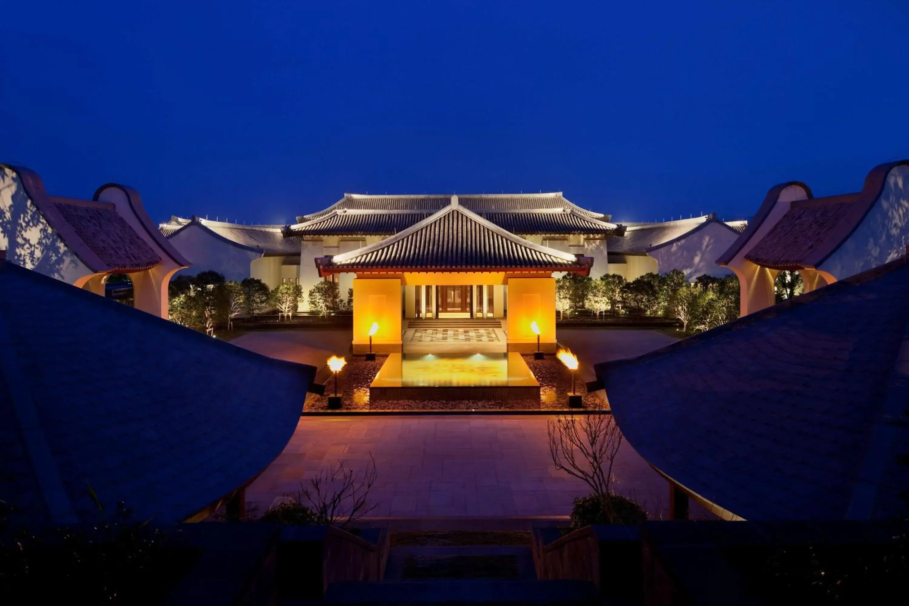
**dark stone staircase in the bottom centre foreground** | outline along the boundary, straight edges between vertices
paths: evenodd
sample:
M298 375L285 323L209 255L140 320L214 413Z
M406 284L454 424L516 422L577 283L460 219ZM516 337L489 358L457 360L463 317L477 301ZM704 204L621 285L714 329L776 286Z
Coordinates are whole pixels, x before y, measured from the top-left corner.
M590 581L536 578L529 532L392 532L383 581L335 582L325 604L599 604Z

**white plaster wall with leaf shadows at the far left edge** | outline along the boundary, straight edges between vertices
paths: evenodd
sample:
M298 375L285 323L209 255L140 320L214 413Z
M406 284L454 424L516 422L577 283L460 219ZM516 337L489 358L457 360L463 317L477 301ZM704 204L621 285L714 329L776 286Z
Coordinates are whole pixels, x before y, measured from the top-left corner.
M19 175L0 167L0 250L16 265L76 283L93 273L45 221Z

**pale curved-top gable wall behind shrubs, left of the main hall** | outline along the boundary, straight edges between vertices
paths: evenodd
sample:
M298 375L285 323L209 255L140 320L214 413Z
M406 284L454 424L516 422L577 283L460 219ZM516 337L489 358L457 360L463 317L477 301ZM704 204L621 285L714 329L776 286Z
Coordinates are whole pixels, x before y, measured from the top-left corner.
M174 248L193 263L192 267L180 270L177 274L196 275L201 272L217 272L225 280L241 282L250 277L250 263L260 256L255 251L237 248L197 224L189 224L169 239Z

